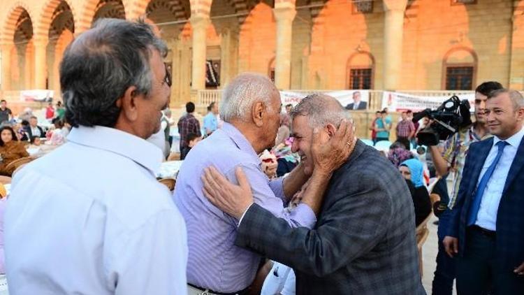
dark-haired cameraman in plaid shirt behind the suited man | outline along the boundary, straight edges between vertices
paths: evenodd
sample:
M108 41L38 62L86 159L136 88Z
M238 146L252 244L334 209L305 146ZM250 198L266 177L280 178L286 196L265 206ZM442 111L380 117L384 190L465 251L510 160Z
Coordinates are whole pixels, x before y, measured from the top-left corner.
M483 82L476 87L474 112L475 122L468 127L460 129L458 133L453 134L447 139L444 145L444 154L439 152L437 146L430 146L431 156L438 175L444 176L451 171L455 172L453 174L453 185L451 187L451 193L449 194L449 202L439 216L439 227L437 230L439 252L437 254L437 268L435 269L435 277L433 278L432 284L432 294L434 295L451 295L453 292L455 261L446 254L442 240L444 239L449 224L449 212L455 205L458 187L466 160L467 149L470 147L471 143L481 141L485 136L488 136L484 110L486 108L488 94L497 89L502 89L502 85L499 82L493 81ZM445 200L442 201L445 202ZM443 207L444 205L445 204L442 204L439 207Z

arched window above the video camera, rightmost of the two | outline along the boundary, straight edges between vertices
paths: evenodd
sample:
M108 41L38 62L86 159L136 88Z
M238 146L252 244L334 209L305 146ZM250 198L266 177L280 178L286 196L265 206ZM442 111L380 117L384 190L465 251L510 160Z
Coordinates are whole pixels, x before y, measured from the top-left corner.
M455 48L444 55L442 89L472 90L476 84L476 54L470 48Z

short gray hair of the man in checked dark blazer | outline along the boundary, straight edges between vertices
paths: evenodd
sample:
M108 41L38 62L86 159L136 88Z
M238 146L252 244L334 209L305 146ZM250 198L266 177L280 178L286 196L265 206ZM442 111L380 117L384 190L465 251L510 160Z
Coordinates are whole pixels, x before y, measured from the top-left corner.
M325 127L333 124L339 127L342 120L351 120L351 114L333 96L326 94L310 94L291 110L291 119L305 116L310 127Z

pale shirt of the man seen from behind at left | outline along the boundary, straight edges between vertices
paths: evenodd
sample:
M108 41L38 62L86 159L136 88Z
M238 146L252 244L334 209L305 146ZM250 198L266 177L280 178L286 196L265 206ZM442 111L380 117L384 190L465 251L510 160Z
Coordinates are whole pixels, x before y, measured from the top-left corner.
M187 294L184 220L155 175L160 150L107 127L13 178L5 220L9 292Z

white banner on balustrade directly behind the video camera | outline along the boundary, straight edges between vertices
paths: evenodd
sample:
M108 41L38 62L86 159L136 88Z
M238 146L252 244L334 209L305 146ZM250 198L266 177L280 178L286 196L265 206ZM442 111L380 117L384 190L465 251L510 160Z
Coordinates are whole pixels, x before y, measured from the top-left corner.
M475 94L458 94L460 100L467 99L470 102L470 111L474 111ZM405 94L401 92L388 92L382 94L382 108L388 108L390 112L402 112L403 110L413 110L419 112L430 108L435 110L444 101L451 98L451 96L417 96L412 94Z

